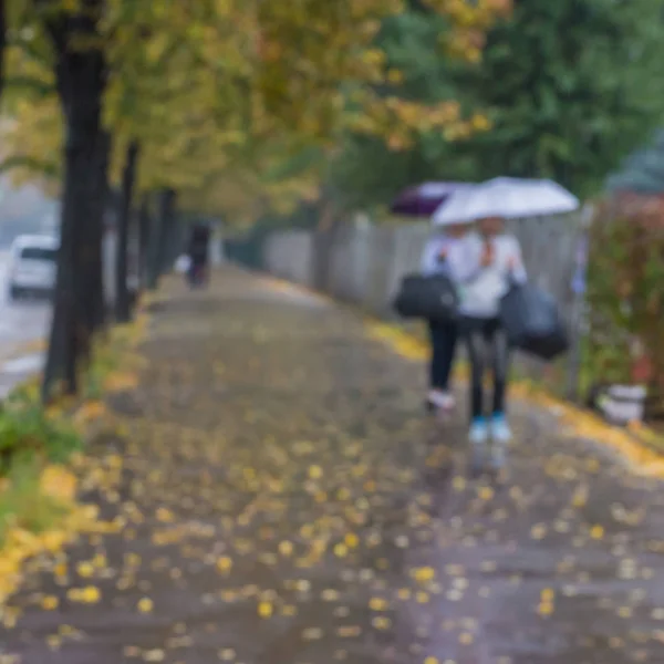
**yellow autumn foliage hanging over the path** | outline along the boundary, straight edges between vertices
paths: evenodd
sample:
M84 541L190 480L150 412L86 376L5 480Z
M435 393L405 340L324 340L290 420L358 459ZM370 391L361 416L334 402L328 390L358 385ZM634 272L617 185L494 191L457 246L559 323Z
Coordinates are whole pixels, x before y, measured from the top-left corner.
M426 1L449 19L447 51L470 61L479 59L494 21L511 9L510 0ZM83 11L75 0L62 0L60 9ZM139 190L168 186L199 209L246 218L257 207L286 211L318 195L315 169L279 184L262 177L283 158L284 144L332 149L353 129L384 136L400 151L421 132L456 139L487 131L486 118L464 120L454 102L426 105L374 92L402 81L375 37L385 18L403 10L403 0L106 0L97 39L77 46L103 49L108 64L103 121L113 135L113 183L127 144L137 139ZM19 20L12 28L32 29L21 32L30 48L10 49L8 75L48 90L54 82L49 50L37 23L27 23L39 19L12 14ZM40 50L44 55L34 56ZM346 89L356 91L352 113ZM23 160L17 178L34 177L44 162L58 175L63 132L55 94L19 95L14 117L3 144L6 158Z

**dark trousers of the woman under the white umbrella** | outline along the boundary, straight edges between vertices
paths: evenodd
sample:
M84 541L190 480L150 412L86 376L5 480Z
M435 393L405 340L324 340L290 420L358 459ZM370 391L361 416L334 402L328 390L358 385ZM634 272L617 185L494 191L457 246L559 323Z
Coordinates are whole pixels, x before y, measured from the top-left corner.
M485 414L483 383L489 365L494 373L491 412L494 414L505 413L510 349L500 321L498 319L464 318L460 330L470 362L470 417L474 419Z

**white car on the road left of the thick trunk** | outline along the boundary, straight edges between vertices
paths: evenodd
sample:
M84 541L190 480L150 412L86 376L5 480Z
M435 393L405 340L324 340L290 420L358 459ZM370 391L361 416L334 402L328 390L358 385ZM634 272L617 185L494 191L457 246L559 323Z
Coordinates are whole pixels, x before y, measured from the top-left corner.
M52 236L19 236L12 243L7 272L11 300L28 294L46 295L55 287L55 266L60 241Z

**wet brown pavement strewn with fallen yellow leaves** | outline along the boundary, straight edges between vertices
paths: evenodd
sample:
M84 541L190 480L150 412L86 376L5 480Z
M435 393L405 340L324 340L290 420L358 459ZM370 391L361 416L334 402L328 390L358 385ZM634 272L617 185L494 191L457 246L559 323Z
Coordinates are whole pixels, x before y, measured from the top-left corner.
M232 271L179 289L91 448L123 528L31 563L7 657L664 662L661 485L521 404L509 476L470 479L460 417L353 314Z

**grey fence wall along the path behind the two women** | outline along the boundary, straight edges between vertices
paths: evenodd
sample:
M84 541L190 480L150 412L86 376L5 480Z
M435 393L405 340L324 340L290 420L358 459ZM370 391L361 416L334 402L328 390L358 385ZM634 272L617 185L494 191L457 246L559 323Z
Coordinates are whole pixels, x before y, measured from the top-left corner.
M573 299L571 281L580 234L577 219L526 219L510 226L521 242L530 279L551 292L568 312ZM318 241L311 231L278 231L268 236L263 245L262 266L283 279L318 286L341 300L362 302L387 314L402 277L419 269L429 232L428 225L422 222L349 224ZM322 283L319 279L317 284L314 267L321 261L328 269Z

